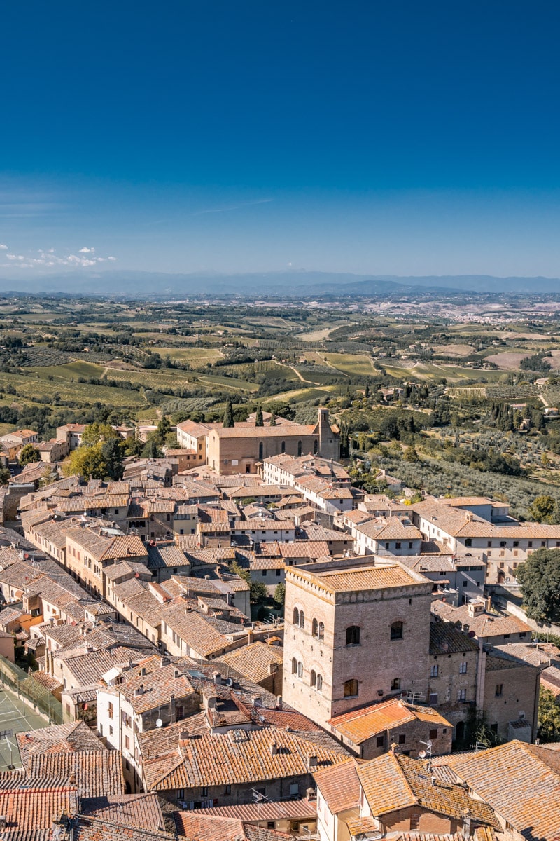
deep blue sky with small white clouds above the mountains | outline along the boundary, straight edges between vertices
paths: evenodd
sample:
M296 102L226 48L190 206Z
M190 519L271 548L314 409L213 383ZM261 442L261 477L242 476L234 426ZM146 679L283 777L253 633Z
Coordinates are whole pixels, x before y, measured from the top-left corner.
M10 3L0 276L560 276L559 23L555 0Z

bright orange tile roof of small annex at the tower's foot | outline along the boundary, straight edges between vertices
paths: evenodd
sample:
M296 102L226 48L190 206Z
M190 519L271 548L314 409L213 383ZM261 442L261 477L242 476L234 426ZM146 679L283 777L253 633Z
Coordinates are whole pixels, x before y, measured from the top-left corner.
M430 722L434 727L452 727L447 719L431 706L413 706L398 698L346 712L342 716L331 718L327 724L344 738L351 739L354 744L361 744L377 733L414 721Z

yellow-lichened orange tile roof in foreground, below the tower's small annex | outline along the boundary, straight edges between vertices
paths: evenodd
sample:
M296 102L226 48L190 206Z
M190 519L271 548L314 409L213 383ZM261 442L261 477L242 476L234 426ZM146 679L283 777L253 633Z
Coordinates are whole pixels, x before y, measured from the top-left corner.
M390 752L360 766L358 776L374 817L421 806L463 820L468 809L474 822L500 826L488 804L468 796L462 785L447 785L439 780L432 783L419 759Z

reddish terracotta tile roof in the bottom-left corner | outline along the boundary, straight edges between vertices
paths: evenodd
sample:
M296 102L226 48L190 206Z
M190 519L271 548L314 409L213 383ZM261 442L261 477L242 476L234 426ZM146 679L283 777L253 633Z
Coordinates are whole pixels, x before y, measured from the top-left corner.
M53 817L62 812L75 814L78 798L75 785L54 788L0 788L0 814L6 817L6 828L17 830L17 838L35 829L51 829ZM2 833L4 835L4 833Z

